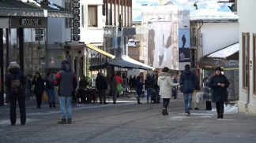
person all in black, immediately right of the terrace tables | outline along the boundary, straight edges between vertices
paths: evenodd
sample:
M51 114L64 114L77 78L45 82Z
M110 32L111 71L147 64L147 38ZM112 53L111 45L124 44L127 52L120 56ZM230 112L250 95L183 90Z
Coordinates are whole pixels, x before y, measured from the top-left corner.
M107 82L103 73L101 72L98 72L96 77L96 89L98 90L98 94L100 96L100 104L104 103L106 105Z

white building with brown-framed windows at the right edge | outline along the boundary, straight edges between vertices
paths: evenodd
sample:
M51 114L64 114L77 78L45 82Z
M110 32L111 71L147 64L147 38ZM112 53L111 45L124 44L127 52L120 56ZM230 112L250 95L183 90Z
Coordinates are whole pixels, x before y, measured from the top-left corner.
M256 115L256 1L238 0L239 112Z

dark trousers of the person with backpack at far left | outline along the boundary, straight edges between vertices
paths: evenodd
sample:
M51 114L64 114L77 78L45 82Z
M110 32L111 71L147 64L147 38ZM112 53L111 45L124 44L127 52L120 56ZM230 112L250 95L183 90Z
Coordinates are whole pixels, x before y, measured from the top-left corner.
M9 119L12 124L16 123L16 105L20 108L21 123L26 123L25 97L9 97Z

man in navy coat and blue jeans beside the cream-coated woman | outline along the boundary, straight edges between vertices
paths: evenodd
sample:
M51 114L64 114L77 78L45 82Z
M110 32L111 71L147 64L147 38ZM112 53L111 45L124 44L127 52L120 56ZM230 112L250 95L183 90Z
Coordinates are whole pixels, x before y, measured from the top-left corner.
M192 94L194 89L196 88L196 76L193 72L190 71L190 65L185 65L185 70L183 71L182 75L179 78L179 84L182 87L183 97L184 97L184 104L185 104L185 115L190 115L190 105L192 101Z

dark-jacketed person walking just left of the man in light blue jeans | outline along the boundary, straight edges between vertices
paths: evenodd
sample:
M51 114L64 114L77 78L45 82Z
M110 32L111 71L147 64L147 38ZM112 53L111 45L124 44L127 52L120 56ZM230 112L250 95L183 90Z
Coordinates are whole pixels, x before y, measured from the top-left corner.
M47 72L47 76L45 77L44 82L45 82L45 90L46 90L47 96L48 96L48 104L49 104L50 108L52 108L52 107L56 108L54 81L55 81L54 76L51 75L50 72Z

